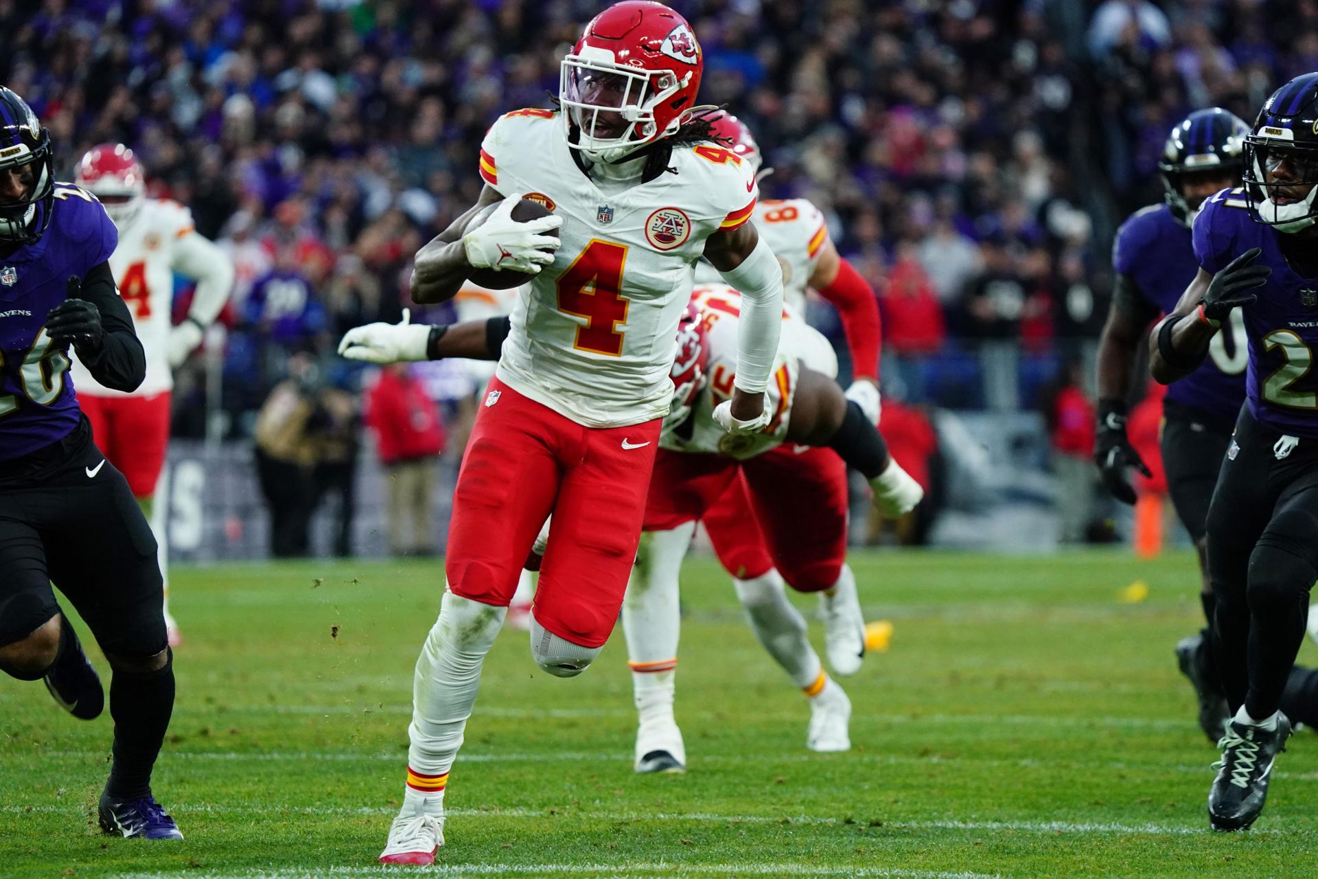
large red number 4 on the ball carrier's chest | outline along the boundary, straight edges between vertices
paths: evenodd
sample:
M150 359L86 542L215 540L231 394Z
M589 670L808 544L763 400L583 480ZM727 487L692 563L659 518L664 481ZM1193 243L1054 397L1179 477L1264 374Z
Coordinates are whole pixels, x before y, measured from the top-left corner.
M618 329L627 322L627 302L622 290L622 268L627 261L627 246L612 241L590 239L567 271L559 275L559 311L573 318L585 318L577 327L573 348L597 354L622 354L622 336Z

